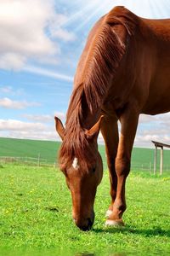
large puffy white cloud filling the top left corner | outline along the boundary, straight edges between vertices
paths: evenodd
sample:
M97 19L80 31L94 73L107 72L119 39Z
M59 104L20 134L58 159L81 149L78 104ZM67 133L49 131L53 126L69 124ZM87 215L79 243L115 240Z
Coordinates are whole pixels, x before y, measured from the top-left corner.
M45 60L58 54L59 44L54 43L53 36L66 41L74 38L61 27L65 19L55 12L53 0L1 0L0 68L18 70L28 59ZM59 33L50 32L54 24L59 24Z

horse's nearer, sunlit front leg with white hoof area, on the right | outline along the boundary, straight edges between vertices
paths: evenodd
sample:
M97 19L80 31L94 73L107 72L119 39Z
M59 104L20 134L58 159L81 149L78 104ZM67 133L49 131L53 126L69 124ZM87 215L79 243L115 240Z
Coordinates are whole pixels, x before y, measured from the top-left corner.
M123 225L122 214L126 210L125 183L130 172L131 152L138 119L139 112L135 108L127 108L120 117L122 127L115 162L117 176L116 200L112 213L106 220L108 225Z

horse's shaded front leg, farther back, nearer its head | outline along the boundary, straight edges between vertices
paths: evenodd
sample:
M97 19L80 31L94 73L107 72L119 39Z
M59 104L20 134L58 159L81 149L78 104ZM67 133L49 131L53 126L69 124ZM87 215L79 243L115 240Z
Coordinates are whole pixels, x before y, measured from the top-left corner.
M118 127L117 127L117 119L116 116L105 117L102 122L101 132L105 140L105 153L107 157L107 165L110 173L110 182L111 182L111 205L106 212L106 216L112 213L113 204L116 199L116 186L117 186L117 177L116 177L116 169L115 169L115 159L116 152L118 147Z

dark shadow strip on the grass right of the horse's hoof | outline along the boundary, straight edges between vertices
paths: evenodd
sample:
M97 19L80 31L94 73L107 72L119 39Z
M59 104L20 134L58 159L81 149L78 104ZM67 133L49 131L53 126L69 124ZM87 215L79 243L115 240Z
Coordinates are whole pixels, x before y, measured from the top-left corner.
M116 233L127 233L127 234L135 234L135 235L142 235L145 237L149 236L167 236L170 237L170 230L162 230L160 227L156 227L153 230L139 230L136 228L131 227L122 227L122 228L116 228L116 227L105 227L105 229L93 229L94 233L110 233L110 234L116 234Z

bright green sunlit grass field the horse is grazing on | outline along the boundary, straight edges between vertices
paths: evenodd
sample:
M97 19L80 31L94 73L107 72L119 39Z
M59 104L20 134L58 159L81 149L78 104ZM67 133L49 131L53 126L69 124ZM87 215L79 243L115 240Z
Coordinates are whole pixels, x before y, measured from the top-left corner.
M94 229L89 232L73 224L71 195L58 170L4 165L0 177L0 247L10 255L11 248L37 248L50 255L169 255L168 176L132 172L127 179L127 225L115 229L105 227L105 211L110 203L105 172L95 201Z

